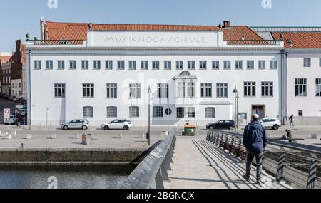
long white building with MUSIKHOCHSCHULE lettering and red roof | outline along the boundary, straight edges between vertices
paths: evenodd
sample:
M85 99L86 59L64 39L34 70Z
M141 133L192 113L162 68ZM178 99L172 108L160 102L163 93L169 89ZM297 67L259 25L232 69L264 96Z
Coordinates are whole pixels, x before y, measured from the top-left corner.
M76 118L148 125L148 87L153 125L233 119L235 85L239 118L282 116L283 41L263 41L248 27L225 21L222 28L54 22L41 28L44 41L26 43L33 125Z

